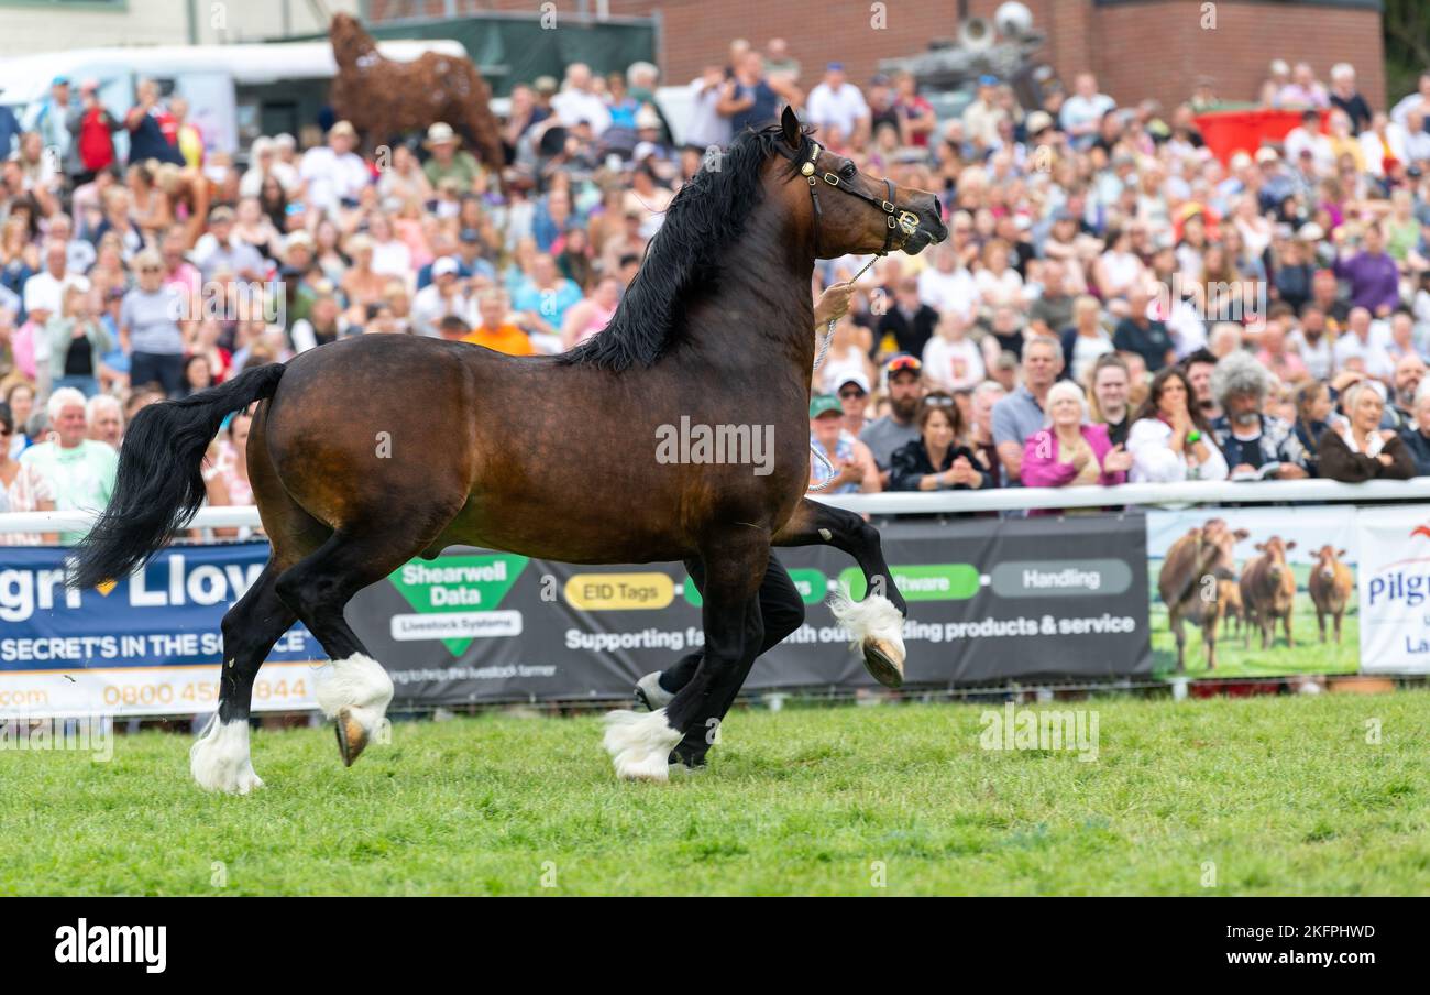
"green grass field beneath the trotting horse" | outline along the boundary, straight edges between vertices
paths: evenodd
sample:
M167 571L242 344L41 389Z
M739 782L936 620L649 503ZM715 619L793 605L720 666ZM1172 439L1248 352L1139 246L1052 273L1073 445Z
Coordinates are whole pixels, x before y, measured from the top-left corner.
M399 723L350 770L257 732L249 797L177 734L6 752L0 893L1430 893L1427 691L1057 707L1095 762L984 750L975 704L739 710L664 786L596 717Z

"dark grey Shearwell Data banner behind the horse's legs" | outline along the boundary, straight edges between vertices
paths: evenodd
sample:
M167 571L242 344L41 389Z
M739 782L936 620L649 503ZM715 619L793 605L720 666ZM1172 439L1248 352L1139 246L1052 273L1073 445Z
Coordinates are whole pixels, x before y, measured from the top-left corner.
M1130 515L898 523L885 558L909 606L907 681L922 686L1151 673L1144 520ZM874 686L825 598L864 577L827 547L775 550L805 624L755 661L746 689ZM679 566L571 567L452 551L355 598L359 637L398 700L629 694L702 643Z

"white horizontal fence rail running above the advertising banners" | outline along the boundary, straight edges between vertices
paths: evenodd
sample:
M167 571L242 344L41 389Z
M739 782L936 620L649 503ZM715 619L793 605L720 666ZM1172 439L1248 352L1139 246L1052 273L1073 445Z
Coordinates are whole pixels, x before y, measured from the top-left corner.
M889 491L887 494L811 495L849 511L877 515L1015 511L1027 508L1100 508L1188 504L1334 504L1344 501L1430 501L1430 477L1338 484L1331 480L1193 481L1183 484L1121 484L1120 487L1027 487L990 491ZM84 531L90 511L20 511L0 514L0 533ZM202 508L194 528L256 527L257 508Z

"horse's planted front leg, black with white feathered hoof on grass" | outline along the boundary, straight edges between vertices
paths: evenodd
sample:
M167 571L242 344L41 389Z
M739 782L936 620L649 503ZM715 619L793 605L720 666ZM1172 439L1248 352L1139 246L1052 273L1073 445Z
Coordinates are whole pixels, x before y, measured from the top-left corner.
M695 674L664 709L649 714L612 712L605 746L616 775L628 780L666 780L671 753L692 743L688 762L715 742L719 719L759 653L765 628L759 584L769 560L769 534L736 525L702 545L705 567L705 650Z

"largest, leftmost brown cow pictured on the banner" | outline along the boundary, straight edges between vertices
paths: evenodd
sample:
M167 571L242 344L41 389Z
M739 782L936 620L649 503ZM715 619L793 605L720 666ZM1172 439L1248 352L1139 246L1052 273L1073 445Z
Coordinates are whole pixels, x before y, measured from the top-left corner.
M1167 606L1167 621L1177 639L1177 673L1187 670L1184 621L1201 627L1207 670L1217 669L1217 623L1221 620L1221 581L1236 578L1233 548L1248 535L1231 531L1221 518L1210 518L1167 548L1157 590Z

